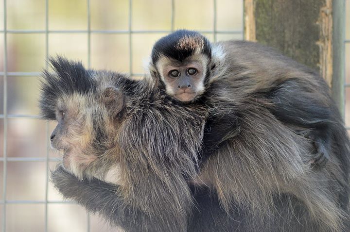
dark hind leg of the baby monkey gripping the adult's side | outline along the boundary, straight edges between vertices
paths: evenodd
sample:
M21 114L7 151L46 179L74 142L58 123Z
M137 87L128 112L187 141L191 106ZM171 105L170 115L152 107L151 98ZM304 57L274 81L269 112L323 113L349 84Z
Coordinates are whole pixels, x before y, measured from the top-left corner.
M303 83L305 84L305 83ZM316 166L327 164L331 151L332 112L320 91L310 92L296 80L288 80L273 90L272 113L282 122L310 129L308 137L315 146L315 157L310 161Z

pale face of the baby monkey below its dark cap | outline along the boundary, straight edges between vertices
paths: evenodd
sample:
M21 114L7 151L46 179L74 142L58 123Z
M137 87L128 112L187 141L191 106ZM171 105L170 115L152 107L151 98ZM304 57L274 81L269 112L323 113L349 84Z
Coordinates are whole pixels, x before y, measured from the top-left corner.
M167 94L182 102L191 102L204 92L208 58L191 56L183 62L162 57L157 62Z

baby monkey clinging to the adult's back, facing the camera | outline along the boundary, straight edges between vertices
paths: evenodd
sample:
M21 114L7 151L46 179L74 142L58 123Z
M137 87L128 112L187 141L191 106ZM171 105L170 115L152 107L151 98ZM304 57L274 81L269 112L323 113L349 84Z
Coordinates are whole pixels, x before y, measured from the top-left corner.
M263 99L270 101L270 111L280 121L297 132L308 131L305 136L315 145L312 165L323 167L328 162L332 130L328 89L323 86L312 92L314 87L308 86L304 77L310 76L309 80L316 83L320 77L305 66L256 43L211 44L200 33L179 30L155 43L149 69L158 87L183 103L202 101L217 108L212 96L234 102L237 96L248 95L249 91L256 94L258 90ZM241 85L243 82L246 83ZM322 92L325 96L319 95ZM218 127L217 121L212 117L207 122L210 136L225 130ZM204 147L201 156L205 160L210 155L210 143Z

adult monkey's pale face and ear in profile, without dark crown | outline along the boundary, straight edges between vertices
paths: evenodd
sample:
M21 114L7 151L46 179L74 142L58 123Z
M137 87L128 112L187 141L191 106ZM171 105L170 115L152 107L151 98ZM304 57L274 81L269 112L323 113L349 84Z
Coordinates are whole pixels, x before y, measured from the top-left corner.
M57 126L50 136L53 149L63 154L64 167L80 173L114 146L116 116L123 109L123 94L105 88L100 98L73 94L57 100Z

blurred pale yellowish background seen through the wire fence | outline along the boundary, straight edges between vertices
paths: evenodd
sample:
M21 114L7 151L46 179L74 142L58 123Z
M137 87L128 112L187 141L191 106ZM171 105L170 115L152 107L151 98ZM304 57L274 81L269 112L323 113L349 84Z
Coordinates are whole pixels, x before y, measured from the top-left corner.
M344 91L350 129L346 1ZM200 31L212 42L243 39L243 0L0 0L2 232L118 231L65 202L49 182L60 155L48 140L55 124L37 116L38 77L47 68L46 58L56 54L140 77L154 42L184 28Z

